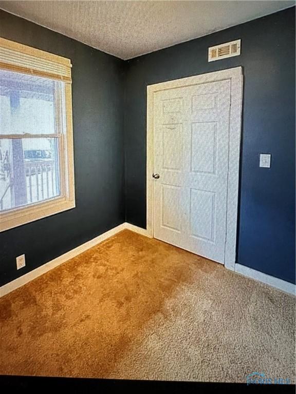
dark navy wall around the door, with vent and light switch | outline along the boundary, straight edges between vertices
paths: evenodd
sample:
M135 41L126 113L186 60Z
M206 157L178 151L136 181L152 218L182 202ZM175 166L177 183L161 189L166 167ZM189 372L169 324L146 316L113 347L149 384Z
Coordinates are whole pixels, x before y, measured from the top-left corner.
M242 39L212 63L208 47ZM146 86L243 66L237 262L295 283L295 8L125 63L126 220L146 227ZM259 154L271 153L270 169Z

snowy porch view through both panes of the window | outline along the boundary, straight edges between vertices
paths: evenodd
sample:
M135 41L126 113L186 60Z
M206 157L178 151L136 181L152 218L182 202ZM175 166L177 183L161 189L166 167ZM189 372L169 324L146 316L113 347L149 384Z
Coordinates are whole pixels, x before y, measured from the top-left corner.
M0 70L0 210L61 194L64 83Z

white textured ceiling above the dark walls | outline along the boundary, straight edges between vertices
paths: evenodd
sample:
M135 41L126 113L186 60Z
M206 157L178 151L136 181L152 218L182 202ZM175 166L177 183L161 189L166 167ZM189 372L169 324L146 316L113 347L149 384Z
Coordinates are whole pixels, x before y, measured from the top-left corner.
M0 8L127 60L291 7L294 1L0 1Z

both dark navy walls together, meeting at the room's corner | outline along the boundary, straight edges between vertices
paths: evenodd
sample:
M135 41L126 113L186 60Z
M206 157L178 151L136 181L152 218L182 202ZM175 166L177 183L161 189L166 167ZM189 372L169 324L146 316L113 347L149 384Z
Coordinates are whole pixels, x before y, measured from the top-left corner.
M0 36L72 61L77 206L0 233L0 286L125 219L145 228L146 86L236 66L245 80L237 262L295 283L294 8L129 62L1 10ZM207 62L209 46L237 38L241 56ZM261 152L271 169L258 167Z

